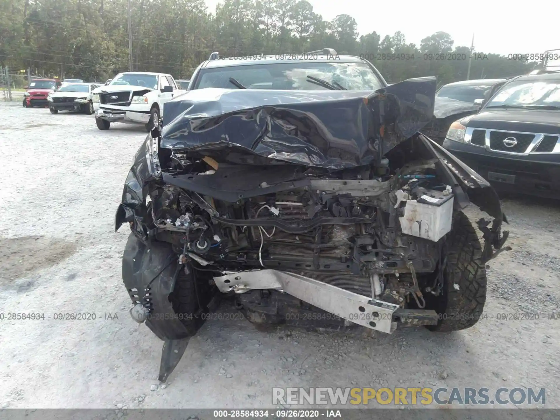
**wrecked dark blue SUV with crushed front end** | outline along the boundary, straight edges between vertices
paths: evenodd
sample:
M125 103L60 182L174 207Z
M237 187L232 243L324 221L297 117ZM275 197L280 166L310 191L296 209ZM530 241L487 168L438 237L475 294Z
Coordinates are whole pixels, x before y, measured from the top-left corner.
M318 55L206 62L136 154L115 229L132 230L123 280L165 342L161 381L221 296L261 324L450 331L482 316L506 218L487 181L418 133L435 78L387 86L365 60ZM471 202L493 218L483 246Z

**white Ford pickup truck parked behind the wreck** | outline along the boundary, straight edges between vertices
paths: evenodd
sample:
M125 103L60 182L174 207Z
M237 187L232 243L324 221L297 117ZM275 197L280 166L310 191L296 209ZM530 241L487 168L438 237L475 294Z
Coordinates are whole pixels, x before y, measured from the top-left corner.
M93 92L99 96L95 123L100 130L108 130L115 122L144 124L149 132L153 122L163 115L165 102L184 92L171 74L119 73L109 85Z

